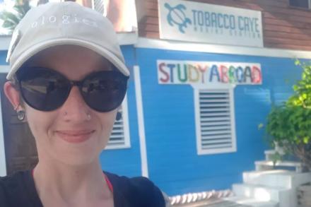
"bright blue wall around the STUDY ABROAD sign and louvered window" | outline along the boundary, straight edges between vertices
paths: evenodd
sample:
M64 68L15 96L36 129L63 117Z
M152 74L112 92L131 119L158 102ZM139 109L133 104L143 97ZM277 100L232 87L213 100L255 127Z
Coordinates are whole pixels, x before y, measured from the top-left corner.
M149 176L169 195L227 189L264 159L264 123L271 102L286 100L300 78L293 59L161 49L136 49L146 130ZM157 59L252 62L262 65L262 85L234 90L237 152L197 155L194 91L190 85L159 85Z

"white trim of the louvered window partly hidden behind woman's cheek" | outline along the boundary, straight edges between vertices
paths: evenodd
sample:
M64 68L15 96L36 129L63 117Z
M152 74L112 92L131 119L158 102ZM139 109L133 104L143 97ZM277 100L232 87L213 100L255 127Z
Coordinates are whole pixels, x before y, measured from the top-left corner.
M131 148L131 141L129 138L129 111L127 108L127 94L124 97L122 102L122 121L123 121L123 133L124 133L124 144L120 146L110 146L109 142L105 150L115 150L115 149L124 149Z

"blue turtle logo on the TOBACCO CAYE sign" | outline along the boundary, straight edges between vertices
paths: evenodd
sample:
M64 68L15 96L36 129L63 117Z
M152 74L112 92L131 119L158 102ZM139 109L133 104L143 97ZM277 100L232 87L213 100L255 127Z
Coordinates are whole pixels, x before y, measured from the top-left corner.
M175 7L170 6L170 4L165 3L165 8L168 8L168 23L173 27L174 24L178 26L180 32L184 33L184 28L187 28L187 24L191 24L191 20L186 17L184 10L186 6L183 4L178 4Z

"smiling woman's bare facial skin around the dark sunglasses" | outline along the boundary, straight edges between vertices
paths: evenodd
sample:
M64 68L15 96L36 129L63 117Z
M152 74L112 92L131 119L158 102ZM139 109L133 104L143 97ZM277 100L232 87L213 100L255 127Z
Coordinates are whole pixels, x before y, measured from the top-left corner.
M80 81L94 71L112 69L100 55L72 45L40 52L30 61L30 66L54 69L71 81ZM56 160L69 165L97 161L107 145L117 113L117 109L110 112L92 110L77 86L71 88L64 105L52 112L35 110L27 104L24 107L40 161Z

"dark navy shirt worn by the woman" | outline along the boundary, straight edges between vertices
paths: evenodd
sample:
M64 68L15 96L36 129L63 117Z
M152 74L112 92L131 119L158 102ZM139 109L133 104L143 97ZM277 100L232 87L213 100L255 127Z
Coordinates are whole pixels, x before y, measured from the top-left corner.
M115 207L165 207L163 194L145 177L119 177L105 172ZM1 207L42 207L30 170L0 178Z

